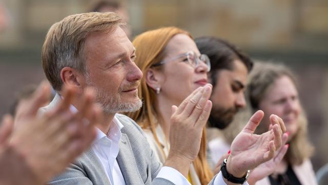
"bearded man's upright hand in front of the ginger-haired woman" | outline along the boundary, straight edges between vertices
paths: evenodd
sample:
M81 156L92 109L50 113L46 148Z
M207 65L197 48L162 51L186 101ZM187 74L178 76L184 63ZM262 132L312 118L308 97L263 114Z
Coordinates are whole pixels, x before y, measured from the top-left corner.
M165 165L187 176L197 157L203 127L210 116L212 85L197 88L179 107L172 106L170 152Z

